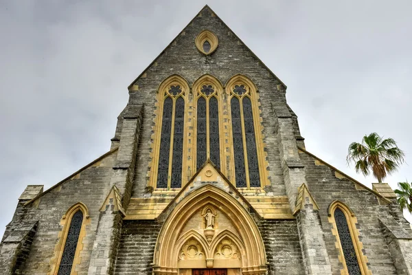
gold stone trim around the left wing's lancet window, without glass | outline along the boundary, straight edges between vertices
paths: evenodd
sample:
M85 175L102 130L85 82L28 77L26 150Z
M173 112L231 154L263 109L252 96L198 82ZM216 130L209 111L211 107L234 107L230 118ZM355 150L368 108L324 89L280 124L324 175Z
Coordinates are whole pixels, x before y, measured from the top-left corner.
M84 203L78 202L71 206L69 210L62 216L60 220L60 225L63 226L62 231L58 233L58 243L54 248L54 257L50 259L50 265L52 266L52 270L48 272L48 275L57 275L58 268L60 267L60 261L62 259L63 250L65 249L65 244L67 240L67 233L69 232L71 219L73 218L73 214L75 214L78 210L83 212L83 221L82 221L82 228L80 228L80 234L78 238L78 244L76 247L76 253L74 254L73 265L71 266L71 275L77 275L78 272L76 271L76 265L80 265L82 258L80 257L80 253L83 250L83 239L86 236L86 227L91 223L91 219L89 218L89 210Z

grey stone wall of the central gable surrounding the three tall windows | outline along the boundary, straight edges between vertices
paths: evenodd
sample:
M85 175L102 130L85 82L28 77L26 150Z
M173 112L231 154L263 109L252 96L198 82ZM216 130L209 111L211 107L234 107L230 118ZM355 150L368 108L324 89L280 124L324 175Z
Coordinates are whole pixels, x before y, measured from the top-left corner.
M201 54L194 43L196 36L205 29L214 32L219 39L218 48L209 56ZM176 41L161 53L157 61L150 65L130 91L130 103L145 104L133 197L141 197L147 191L156 93L161 82L172 74L183 76L190 84L204 74L215 76L223 84L236 74L244 74L251 78L258 87L260 96L271 189L274 195L286 195L277 137L273 134L275 125L272 105L273 102L279 102L286 106L284 88L278 89L278 85L282 86L279 80L272 76L247 47L238 41L233 32L206 8L201 12L201 16L187 25Z

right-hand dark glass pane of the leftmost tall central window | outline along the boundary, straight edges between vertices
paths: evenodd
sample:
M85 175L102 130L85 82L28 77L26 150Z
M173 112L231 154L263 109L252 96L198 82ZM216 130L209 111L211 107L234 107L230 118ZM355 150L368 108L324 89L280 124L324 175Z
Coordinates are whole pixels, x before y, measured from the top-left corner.
M176 107L174 111L172 181L170 183L170 187L172 188L180 188L182 185L184 123L185 100L182 97L179 97L176 99Z

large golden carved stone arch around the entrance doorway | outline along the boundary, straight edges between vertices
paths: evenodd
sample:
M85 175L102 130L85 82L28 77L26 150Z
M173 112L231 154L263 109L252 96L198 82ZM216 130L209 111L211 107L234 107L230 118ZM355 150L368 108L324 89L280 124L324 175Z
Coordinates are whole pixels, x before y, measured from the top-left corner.
M187 221L196 213L204 209L207 211L208 207L225 213L235 225L239 236L229 230L223 230L209 243L205 236L195 230L190 230L179 237ZM191 242L191 240L196 241ZM194 243L197 246L192 247L191 255L198 255L202 248L206 258L202 259L202 262L196 259L199 265L193 265L194 262L191 262L191 265L190 261L179 263L179 261L183 262L179 258L181 255L179 252L185 249L187 251L187 248ZM186 244L189 245L187 248ZM219 255L215 259L217 254ZM222 256L225 260L221 258ZM225 263L227 258L231 260L229 266ZM154 274L178 274L181 266L185 268L225 266L227 268L241 267L242 274L262 275L266 273L266 252L258 226L249 212L225 190L205 185L190 192L170 212L157 238L153 264Z

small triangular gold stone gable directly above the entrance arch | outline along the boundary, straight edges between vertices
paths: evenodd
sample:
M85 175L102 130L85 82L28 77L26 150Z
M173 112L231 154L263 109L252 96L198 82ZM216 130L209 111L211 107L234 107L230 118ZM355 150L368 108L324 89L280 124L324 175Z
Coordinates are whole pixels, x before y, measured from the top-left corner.
M207 161L201 166L201 168L198 169L193 177L189 181L187 181L187 184L183 186L176 197L174 197L174 199L170 201L168 206L165 207L161 214L159 214L158 219L167 217L167 214L174 208L174 206L176 206L179 201L190 194L190 192L208 184L225 190L233 197L235 197L236 200L238 200L239 203L248 210L248 212L255 213L256 217L263 219L258 211L253 208L251 203L249 203L249 201L247 201L247 199L243 197L238 189L236 189L236 187L231 184L229 179L227 179L227 177L225 177L225 175L220 172L219 168L213 162L211 162L210 159L207 159Z

